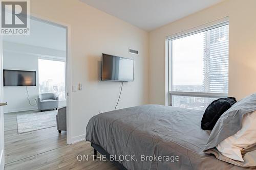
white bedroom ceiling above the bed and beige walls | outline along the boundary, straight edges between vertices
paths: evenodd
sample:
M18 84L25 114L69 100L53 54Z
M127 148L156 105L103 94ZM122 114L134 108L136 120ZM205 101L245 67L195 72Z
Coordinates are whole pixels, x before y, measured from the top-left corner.
M146 31L224 0L80 0Z

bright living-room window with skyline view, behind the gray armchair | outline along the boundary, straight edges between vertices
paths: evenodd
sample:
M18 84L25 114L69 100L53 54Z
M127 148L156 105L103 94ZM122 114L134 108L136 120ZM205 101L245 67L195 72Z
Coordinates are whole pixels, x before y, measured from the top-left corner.
M38 59L39 93L53 92L66 99L66 62Z

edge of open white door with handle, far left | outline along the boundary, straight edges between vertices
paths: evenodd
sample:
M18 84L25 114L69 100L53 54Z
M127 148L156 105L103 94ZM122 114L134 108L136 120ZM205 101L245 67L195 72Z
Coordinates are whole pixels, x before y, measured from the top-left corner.
M5 166L4 112L3 106L3 37L0 36L0 170Z

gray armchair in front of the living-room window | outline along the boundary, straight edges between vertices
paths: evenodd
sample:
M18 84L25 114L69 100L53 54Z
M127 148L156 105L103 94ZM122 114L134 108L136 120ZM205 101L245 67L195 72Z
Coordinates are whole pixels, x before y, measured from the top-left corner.
M59 97L54 93L42 93L38 95L37 107L39 110L56 109L59 106Z

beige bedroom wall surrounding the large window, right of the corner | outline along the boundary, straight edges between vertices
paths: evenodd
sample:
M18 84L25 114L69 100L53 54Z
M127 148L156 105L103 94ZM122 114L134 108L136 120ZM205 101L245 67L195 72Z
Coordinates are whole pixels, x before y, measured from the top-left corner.
M229 95L256 92L256 1L229 0L150 32L150 103L165 104L165 37L229 16Z

